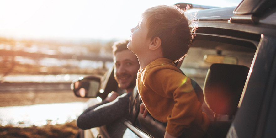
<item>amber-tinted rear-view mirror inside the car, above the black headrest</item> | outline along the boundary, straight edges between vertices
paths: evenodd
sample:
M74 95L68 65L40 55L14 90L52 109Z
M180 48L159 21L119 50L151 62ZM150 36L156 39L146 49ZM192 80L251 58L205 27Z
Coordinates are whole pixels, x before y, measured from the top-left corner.
M204 55L203 60L208 63L238 64L238 58L226 55Z

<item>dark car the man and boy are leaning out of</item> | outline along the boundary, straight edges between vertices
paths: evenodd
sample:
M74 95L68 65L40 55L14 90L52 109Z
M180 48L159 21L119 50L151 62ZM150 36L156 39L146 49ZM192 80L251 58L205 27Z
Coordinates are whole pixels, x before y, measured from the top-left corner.
M275 5L275 0L243 0L237 7L187 12L188 19L198 20L191 27L198 28L187 56L176 65L204 91L202 109L211 120L204 137L276 137ZM84 78L99 84L93 97L117 91L112 72ZM128 118L82 130L81 137L163 137L166 124L142 118L140 104L135 88Z

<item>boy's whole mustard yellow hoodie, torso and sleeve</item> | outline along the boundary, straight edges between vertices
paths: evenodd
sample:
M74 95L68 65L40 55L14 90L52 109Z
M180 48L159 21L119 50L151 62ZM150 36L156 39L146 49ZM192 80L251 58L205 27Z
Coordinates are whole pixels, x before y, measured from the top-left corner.
M137 88L149 113L161 122L167 122L170 135L202 137L210 120L202 112L199 98L190 78L167 58L152 61L137 74ZM203 95L203 94L202 94Z

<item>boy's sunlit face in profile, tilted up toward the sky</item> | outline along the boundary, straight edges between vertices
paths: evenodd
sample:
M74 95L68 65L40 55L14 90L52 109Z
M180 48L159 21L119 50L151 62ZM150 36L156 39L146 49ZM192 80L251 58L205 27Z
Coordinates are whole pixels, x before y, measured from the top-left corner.
M131 30L131 39L127 45L127 48L134 52L137 56L143 56L143 53L149 46L149 40L147 39L148 27L144 21L141 21L136 27Z

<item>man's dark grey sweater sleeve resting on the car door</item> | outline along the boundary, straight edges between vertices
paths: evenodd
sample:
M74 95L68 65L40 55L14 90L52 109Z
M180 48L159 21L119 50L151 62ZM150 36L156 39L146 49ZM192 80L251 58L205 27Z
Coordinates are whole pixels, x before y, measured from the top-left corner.
M129 112L130 95L131 93L125 93L110 103L100 103L89 107L77 118L77 127L86 130L107 125L125 117Z

